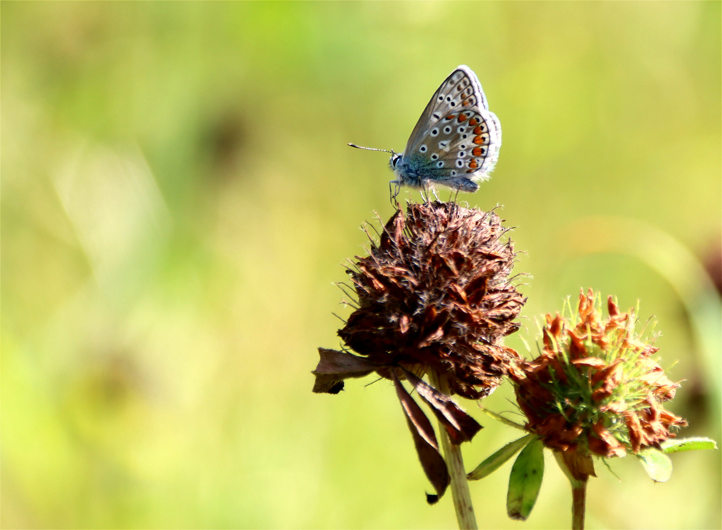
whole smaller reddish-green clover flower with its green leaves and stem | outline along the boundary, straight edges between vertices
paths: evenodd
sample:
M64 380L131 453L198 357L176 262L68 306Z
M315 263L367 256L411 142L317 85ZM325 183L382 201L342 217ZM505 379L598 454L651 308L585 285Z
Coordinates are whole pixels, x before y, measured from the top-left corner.
M601 295L581 291L576 311L552 317L541 329L541 353L510 368L517 403L526 416L521 425L484 410L526 436L507 443L484 459L469 480L481 480L518 453L509 474L507 513L526 520L544 477L544 447L552 450L572 487L572 528L584 528L586 485L596 477L592 456L634 454L656 482L669 480L667 454L716 449L709 438L671 440L687 425L664 408L679 383L670 381L652 358L654 336L637 333L635 312L619 312L610 296L606 318ZM566 309L566 308L565 308ZM521 451L521 452L520 452Z

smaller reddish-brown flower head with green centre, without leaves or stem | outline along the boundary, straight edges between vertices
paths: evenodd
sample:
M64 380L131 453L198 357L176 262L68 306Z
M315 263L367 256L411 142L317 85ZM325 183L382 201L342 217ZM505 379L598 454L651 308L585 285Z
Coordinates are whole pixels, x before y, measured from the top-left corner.
M679 383L651 355L651 341L635 333L632 310L620 313L610 296L580 293L567 319L547 314L544 348L510 373L526 428L556 451L625 456L675 435L687 422L664 409Z

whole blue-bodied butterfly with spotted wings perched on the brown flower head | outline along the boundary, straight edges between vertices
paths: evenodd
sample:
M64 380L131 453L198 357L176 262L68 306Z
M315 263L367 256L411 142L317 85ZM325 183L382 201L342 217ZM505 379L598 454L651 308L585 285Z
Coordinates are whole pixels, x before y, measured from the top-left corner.
M396 176L391 184L396 185L396 195L400 186L427 190L443 185L475 192L477 182L489 178L500 147L499 119L489 110L477 74L462 64L426 105L404 152L386 151L391 153L389 166Z

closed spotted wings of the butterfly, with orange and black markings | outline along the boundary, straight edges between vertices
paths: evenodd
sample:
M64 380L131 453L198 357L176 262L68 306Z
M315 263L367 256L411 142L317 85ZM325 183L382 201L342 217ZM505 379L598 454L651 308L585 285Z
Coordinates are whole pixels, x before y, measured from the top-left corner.
M426 106L404 156L428 156L436 166L435 180L484 178L496 163L501 143L499 120L487 108L476 74L459 66Z

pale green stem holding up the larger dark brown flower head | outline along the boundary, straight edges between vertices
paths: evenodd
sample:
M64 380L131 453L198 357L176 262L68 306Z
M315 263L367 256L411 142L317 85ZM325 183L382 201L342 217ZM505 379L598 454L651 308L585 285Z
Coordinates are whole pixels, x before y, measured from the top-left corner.
M439 392L445 396L451 395L446 376L430 370L429 379L432 386ZM466 482L466 470L464 469L464 459L461 456L461 447L451 443L448 433L446 433L446 429L441 423L439 423L439 434L446 467L451 476L451 498L453 499L454 510L456 510L458 527L460 530L477 530L477 518L474 516L474 505L471 504L469 482Z

